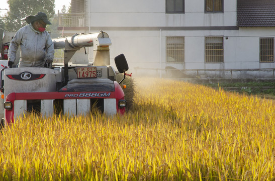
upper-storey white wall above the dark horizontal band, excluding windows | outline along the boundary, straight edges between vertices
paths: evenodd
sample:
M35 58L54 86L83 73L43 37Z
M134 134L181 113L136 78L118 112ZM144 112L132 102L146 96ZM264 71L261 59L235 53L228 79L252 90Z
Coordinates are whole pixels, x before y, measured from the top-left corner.
M165 0L90 0L93 27L236 26L236 0L224 1L224 13L204 12L204 0L185 1L184 14L166 14Z

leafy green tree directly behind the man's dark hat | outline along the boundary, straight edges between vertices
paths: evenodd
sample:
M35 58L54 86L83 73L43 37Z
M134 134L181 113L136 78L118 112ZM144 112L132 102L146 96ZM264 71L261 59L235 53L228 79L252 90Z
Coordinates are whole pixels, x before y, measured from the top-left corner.
M25 17L36 15L38 12L47 14L48 19L54 16L55 0L8 0L10 10L4 17L5 28L9 31L18 31L27 23Z

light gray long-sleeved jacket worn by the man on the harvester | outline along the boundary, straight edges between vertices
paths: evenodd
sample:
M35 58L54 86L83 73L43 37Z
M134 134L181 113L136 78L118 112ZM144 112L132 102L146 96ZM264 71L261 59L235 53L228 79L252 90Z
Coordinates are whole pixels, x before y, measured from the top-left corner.
M47 31L36 31L31 24L16 32L9 47L9 61L15 61L19 46L19 67L43 67L45 58L53 59L54 48L50 34Z

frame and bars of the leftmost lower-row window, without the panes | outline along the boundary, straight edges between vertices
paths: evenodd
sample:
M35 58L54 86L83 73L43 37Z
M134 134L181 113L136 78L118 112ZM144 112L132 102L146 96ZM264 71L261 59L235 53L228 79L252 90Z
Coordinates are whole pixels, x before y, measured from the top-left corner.
M172 56L168 56L168 51L169 50L172 50L172 49L167 49L167 45L168 45L168 38L182 38L182 40L183 40L183 42L182 42L182 48L183 49L173 49L173 51L179 51L179 50L182 50L182 55L172 55ZM174 44L174 46L176 46L176 44L179 44L179 43L169 43L169 44ZM178 46L178 47L180 47L180 46ZM165 37L165 62L166 63L184 63L185 62L185 56L186 56L186 54L185 54L185 36L166 36ZM175 61L168 61L168 57L182 57L182 60L180 60L180 61L176 61L175 59Z

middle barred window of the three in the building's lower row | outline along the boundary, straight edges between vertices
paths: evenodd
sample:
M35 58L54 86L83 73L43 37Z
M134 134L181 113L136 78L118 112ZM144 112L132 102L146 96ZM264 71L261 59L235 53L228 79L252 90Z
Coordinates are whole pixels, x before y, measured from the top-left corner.
M223 62L223 37L205 37L205 62Z

